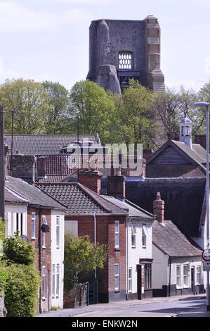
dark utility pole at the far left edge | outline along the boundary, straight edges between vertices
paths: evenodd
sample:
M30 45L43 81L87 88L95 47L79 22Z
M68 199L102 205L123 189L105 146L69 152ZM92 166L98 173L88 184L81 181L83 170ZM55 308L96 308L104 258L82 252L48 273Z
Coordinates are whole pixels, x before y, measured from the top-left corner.
M4 107L0 105L0 217L5 218L4 209L4 185L5 185L5 165L4 165Z

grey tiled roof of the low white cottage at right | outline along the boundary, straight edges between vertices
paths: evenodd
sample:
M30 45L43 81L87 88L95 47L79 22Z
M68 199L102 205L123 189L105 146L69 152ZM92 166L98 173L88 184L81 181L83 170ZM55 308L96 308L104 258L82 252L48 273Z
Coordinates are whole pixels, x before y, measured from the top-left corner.
M171 220L165 220L163 224L155 220L152 225L152 243L171 257L202 254L202 251L194 246Z

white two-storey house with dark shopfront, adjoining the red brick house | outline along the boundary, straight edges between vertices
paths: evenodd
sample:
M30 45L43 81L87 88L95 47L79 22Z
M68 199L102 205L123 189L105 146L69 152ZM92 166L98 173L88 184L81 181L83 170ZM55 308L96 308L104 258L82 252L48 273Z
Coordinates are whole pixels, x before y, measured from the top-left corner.
M152 223L154 216L128 200L104 196L129 211L126 218L126 299L152 297Z

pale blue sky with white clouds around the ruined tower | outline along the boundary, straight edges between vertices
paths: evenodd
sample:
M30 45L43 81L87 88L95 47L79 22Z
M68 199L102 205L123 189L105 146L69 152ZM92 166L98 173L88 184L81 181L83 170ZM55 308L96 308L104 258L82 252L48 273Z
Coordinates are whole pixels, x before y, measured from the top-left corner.
M88 73L91 20L147 15L162 29L166 86L209 82L210 0L0 0L0 83L22 77L70 89Z

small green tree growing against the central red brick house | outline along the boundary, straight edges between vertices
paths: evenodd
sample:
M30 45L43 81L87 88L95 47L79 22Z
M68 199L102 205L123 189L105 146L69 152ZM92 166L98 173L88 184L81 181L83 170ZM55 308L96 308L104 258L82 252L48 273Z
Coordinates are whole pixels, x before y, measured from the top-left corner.
M95 247L88 236L65 235L64 289L78 282L88 282L96 268L103 269L107 260L107 245Z

